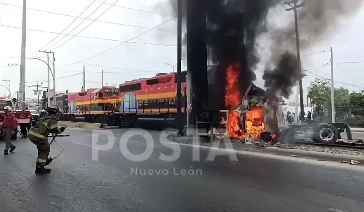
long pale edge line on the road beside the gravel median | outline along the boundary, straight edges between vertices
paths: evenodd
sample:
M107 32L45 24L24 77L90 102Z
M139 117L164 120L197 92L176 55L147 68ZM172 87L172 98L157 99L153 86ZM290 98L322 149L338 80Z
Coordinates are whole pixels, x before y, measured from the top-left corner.
M291 157L289 155L286 156L286 155L277 155L274 153L260 153L260 152L241 151L241 150L235 150L235 149L222 149L222 148L209 147L209 146L203 146L203 145L176 143L176 142L171 142L171 141L168 141L167 143L181 145L181 146L187 146L187 147L209 149L209 150L213 150L213 151L234 152L238 155L257 156L257 157L264 157L264 158L268 158L268 159L289 160L289 161L299 162L299 163L306 163L306 164L312 164L312 165L318 165L318 166L349 169L349 170L364 172L364 167L361 167L358 165L343 164L343 163L335 162L335 161L320 161L320 160L307 159L307 158L302 158L302 157Z

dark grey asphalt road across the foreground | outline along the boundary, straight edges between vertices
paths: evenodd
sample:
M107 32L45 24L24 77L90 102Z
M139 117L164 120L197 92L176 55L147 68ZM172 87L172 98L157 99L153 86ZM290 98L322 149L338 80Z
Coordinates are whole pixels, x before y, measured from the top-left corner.
M1 211L363 212L364 171L247 155L237 162L227 156L205 162L206 149L201 162L193 162L192 148L184 145L177 145L178 160L165 162L160 154L173 151L159 142L159 133L150 134L156 141L149 159L133 162L120 152L122 131L112 132L116 141L110 148L91 148L90 130L58 138L64 152L46 176L34 174L35 146L16 141L16 152L0 156ZM99 138L99 145L106 143L107 137ZM134 154L146 148L142 137L129 137L127 144ZM92 149L99 150L98 161L92 161ZM51 156L61 150L52 144ZM142 175L146 169L153 173ZM181 175L183 169L195 173Z

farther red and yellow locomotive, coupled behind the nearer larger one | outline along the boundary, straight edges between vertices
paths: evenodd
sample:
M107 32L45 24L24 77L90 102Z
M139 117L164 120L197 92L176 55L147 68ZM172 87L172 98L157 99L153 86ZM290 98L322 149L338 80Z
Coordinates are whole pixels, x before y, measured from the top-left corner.
M87 122L103 123L105 115L114 113L119 103L116 87L90 88L87 91L68 94L67 119L84 118Z

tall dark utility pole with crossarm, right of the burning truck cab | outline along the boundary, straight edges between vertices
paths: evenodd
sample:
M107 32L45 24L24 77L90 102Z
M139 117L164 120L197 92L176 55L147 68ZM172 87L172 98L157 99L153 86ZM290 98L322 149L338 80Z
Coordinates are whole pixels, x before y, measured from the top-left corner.
M293 6L286 9L286 11L293 10L293 12L294 12L294 27L296 29L296 49L297 49L297 62L298 62L298 64L297 64L298 67L297 68L298 68L298 71L300 73L302 73L302 71L301 71L301 56L300 56L300 37L299 37L299 34L298 34L297 9L300 8L300 7L303 7L305 5L305 3L302 2L302 3L298 4L298 2L299 2L299 0L289 0L289 1L285 1L284 4L286 4L286 5L293 4ZM298 80L298 89L299 89L299 93L300 93L301 122L304 123L305 116L304 116L304 104L303 104L302 76L300 77L300 80ZM297 115L297 113L296 113L296 115Z

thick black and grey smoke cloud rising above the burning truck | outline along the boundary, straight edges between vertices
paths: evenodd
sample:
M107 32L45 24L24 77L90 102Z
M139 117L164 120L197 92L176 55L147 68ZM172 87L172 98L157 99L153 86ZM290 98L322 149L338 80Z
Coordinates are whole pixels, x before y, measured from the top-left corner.
M177 15L177 0L168 0L173 15ZM305 5L297 9L301 50L312 42L327 39L328 31L344 18L354 16L364 0L301 0ZM165 3L164 3L165 4ZM186 0L183 0L186 8ZM292 5L291 5L292 6ZM162 7L161 4L158 7ZM282 0L208 0L207 45L214 63L241 63L242 83L255 80L254 69L260 62L257 40L262 33L270 35L269 65L263 79L269 93L288 98L292 86L301 77L296 59L294 15L284 28L267 28L269 9L289 8ZM183 11L186 15L186 11ZM276 14L277 16L280 13ZM186 44L184 39L183 44Z

